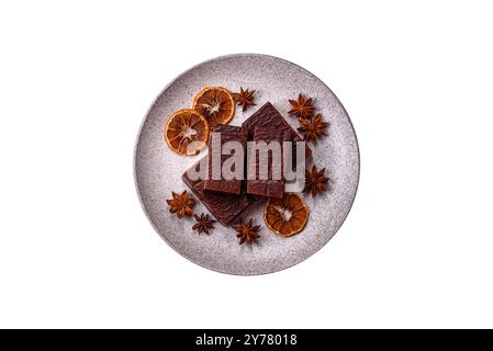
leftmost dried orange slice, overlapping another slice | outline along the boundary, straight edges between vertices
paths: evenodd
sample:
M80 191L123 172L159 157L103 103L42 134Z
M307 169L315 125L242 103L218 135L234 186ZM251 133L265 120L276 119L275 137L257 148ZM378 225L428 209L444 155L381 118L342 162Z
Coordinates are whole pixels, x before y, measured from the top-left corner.
M208 121L194 110L179 110L166 122L165 139L177 154L197 155L209 139Z

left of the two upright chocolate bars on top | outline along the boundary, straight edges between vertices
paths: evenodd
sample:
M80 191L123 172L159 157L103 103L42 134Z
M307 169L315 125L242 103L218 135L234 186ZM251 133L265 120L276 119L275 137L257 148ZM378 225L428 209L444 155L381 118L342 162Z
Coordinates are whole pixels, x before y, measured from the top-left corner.
M239 194L242 191L242 181L244 179L244 157L246 155L247 131L243 127L236 127L227 124L217 124L212 131L211 141L209 143L209 166L208 180L205 180L204 189L208 191L217 191L224 193ZM214 135L215 134L215 135ZM221 136L221 143L217 137ZM232 155L223 155L222 150L226 143L237 141L243 148L243 158L239 165L233 163L231 171L235 174L238 171L238 177L233 179L225 179L223 172L223 162ZM236 169L240 167L240 169Z

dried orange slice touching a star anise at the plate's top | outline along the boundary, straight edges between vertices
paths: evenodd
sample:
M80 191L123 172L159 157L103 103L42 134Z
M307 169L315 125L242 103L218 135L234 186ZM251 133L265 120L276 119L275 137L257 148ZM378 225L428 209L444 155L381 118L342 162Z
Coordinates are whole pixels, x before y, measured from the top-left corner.
M235 114L235 100L231 92L221 87L202 89L193 98L193 110L202 114L211 129L217 123L226 124Z

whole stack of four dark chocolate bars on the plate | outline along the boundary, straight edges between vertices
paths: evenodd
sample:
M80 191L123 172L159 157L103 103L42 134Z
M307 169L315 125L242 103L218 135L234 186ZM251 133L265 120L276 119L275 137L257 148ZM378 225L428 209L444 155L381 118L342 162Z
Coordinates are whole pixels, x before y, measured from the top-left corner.
M221 146L228 141L237 141L243 147L244 155L247 155L247 141L266 141L270 143L277 140L282 147L282 141L301 141L301 137L294 132L291 125L282 117L282 115L276 110L270 102L267 102L261 106L256 113L254 113L248 120L246 120L240 127L217 124L213 133L221 133ZM293 148L295 148L295 143L293 143ZM206 156L208 161L199 161L190 170L186 171L182 176L184 183L191 189L191 191L199 197L202 203L208 207L211 214L221 223L223 226L229 226L234 224L240 214L247 210L256 199L265 197L278 197L281 199L284 194L284 180L273 177L272 169L276 169L279 165L272 165L272 158L269 154L269 168L268 168L268 179L258 180L258 177L242 177L242 179L231 179L226 180L224 178L217 179L213 177L212 158L213 150L211 147L211 141L209 145L209 155ZM219 157L222 163L226 161L231 156L221 155ZM292 152L295 156L295 151ZM305 159L311 157L311 150L305 146ZM244 160L243 169L235 170L233 165L233 172L242 172L245 174L247 172L247 162ZM256 171L259 170L259 158L256 152L251 155L253 162L256 162ZM279 161L279 160L278 160ZM280 160L282 163L282 159ZM201 165L208 165L202 167ZM292 160L292 165L296 165L295 157ZM195 177L190 177L190 174L195 174ZM197 174L200 174L197 177ZM206 176L206 177L205 177ZM258 176L258 174L254 174ZM255 179L253 179L255 178Z

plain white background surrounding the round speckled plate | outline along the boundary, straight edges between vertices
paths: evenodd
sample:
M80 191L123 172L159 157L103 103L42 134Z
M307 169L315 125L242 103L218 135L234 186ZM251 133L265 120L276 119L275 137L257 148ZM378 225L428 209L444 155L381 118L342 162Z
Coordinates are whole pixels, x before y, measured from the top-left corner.
M489 1L1 1L0 327L493 327ZM347 107L339 233L266 276L190 263L147 222L133 149L177 75L292 60Z

